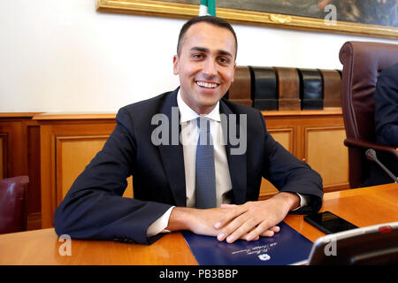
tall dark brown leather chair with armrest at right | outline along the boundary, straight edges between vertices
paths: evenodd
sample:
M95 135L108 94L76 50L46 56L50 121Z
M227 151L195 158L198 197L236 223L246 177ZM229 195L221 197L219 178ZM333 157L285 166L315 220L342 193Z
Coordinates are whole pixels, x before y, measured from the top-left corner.
M364 187L371 161L366 149L388 152L398 158L393 147L377 144L374 121L374 92L379 73L398 63L398 45L380 42L346 42L340 50L343 65L341 106L346 128L350 187Z

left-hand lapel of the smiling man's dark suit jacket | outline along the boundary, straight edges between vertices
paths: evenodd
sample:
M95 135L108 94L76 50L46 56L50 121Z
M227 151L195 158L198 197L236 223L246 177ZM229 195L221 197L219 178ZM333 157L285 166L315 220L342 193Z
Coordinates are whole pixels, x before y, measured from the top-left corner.
M172 190L172 196L177 206L187 206L187 193L185 182L184 153L180 143L180 113L177 105L178 88L166 97L160 110L169 120L169 144L159 145L160 157L165 168L165 173ZM172 111L172 108L174 110ZM178 132L177 132L178 131ZM174 137L172 133L174 132ZM178 136L176 136L178 133Z

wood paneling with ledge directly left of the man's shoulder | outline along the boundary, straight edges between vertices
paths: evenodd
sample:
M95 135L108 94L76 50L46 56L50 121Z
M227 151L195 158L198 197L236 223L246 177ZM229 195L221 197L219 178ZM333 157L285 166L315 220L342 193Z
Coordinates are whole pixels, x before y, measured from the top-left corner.
M46 228L53 226L57 204L89 160L102 148L116 122L114 115L109 114L42 114L34 119L40 124L42 228Z

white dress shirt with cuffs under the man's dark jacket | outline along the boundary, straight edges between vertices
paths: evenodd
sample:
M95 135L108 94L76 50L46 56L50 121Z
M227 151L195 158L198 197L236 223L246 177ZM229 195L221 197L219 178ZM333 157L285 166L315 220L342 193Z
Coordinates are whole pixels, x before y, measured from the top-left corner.
M227 193L231 191L232 183L228 161L226 159L226 143L223 141L221 119L219 115L219 102L209 114L199 115L182 100L179 91L177 95L177 104L180 110L180 141L182 143L184 153L187 207L195 207L195 158L196 144L199 137L199 128L196 126L196 119L201 116L210 119L210 134L214 145L217 207L222 203L231 203L231 199L228 198ZM302 207L306 205L307 202L302 195L299 196L300 207ZM148 227L147 235L149 237L156 235L157 233L169 232L165 230L165 227L168 226L170 214L172 213L173 208L174 206L167 210L163 216L158 218Z

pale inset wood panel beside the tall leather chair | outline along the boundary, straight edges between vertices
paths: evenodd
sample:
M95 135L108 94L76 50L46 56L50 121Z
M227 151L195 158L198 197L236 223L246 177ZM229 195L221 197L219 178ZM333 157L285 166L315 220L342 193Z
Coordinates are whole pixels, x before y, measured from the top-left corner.
M305 128L305 159L319 172L327 191L348 186L348 149L344 126Z

